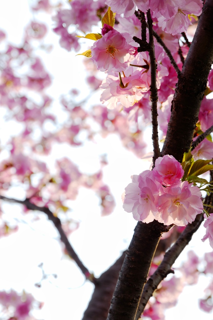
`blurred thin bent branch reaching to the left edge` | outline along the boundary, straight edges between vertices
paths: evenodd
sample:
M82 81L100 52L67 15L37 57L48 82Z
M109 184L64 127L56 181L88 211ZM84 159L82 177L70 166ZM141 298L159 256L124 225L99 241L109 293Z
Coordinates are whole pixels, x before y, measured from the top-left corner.
M65 235L65 232L62 228L61 225L61 220L58 217L55 217L53 213L49 210L47 207L39 207L36 204L33 204L30 202L30 199L26 200L18 200L18 199L13 199L13 198L7 198L4 196L0 196L0 199L8 202L13 202L13 203L19 203L23 204L27 207L29 210L37 210L46 213L48 216L48 219L53 222L55 227L57 228L59 234L60 234L60 239L61 241L65 244L66 251L68 252L69 256L76 262L77 266L80 268L84 276L90 280L91 282L95 283L95 277L90 274L89 270L83 265L82 261L79 259L77 253L74 251L72 248L72 245L70 244L67 236Z

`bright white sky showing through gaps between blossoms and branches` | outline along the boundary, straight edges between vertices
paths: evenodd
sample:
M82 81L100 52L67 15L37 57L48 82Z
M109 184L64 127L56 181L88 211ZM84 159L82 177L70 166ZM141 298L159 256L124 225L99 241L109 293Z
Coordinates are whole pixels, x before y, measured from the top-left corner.
M4 1L1 7L0 28L7 32L11 42L20 43L22 30L32 18L27 0ZM66 52L59 47L58 36L55 34L51 33L47 42L49 44L53 42L56 47L49 56L44 54L43 59L46 68L54 75L53 88L50 89L49 94L58 99L62 93L69 92L73 86L81 86L84 78L83 66L81 57L75 57L74 53ZM0 121L2 137L6 127L2 120ZM150 130L147 133L150 133ZM109 184L116 198L117 207L112 215L101 218L98 200L94 193L82 189L77 201L72 203L72 218L81 221L81 224L80 228L71 235L70 241L87 268L94 271L95 276L99 276L118 258L120 252L126 249L131 240L136 222L131 214L123 211L121 194L126 185L131 182L130 176L148 169L149 164L122 148L119 139L115 136L109 136L106 140L97 140L96 145L90 143L88 148L90 148L90 154L87 153L87 158L83 149L73 148L72 160L80 166L81 170L95 172L98 155L109 154L109 166L104 169L105 182ZM151 147L147 151L150 150ZM60 154L60 157L69 156L63 146L54 154ZM11 197L17 196L17 190L14 191L14 194L11 192ZM19 192L21 196L21 191ZM21 208L18 205L11 206L5 203L4 211L5 219L8 221L22 220ZM85 283L75 263L64 257L61 244L57 241L56 230L42 213L40 216L40 221L33 221L33 215L28 214L27 223L24 221L20 223L18 233L0 239L0 256L2 257L0 290L13 288L22 292L24 289L26 292L32 292L38 301L44 301L42 310L34 312L37 319L80 320L93 291L93 285L89 282ZM204 229L200 228L187 250L194 249L199 256L206 251L210 252L211 248L207 241L202 243L200 240L204 233ZM181 259L177 260L177 265L184 258L186 258L186 252L182 254ZM41 279L41 269L38 268L41 262L47 274L57 274L58 278L55 280L50 276L42 282L42 288L38 289L34 284ZM180 317L212 320L212 315L201 312L197 306L197 300L202 298L202 291L207 283L208 280L202 277L199 289L197 286L186 287L184 294L180 296L178 306L167 311L166 320L176 320Z

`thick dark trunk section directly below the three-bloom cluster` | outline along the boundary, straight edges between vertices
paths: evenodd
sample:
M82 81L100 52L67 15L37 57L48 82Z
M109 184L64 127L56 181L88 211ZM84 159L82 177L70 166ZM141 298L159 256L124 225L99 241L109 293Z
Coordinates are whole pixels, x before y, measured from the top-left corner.
M143 286L162 232L167 226L139 221L121 268L107 320L134 320Z

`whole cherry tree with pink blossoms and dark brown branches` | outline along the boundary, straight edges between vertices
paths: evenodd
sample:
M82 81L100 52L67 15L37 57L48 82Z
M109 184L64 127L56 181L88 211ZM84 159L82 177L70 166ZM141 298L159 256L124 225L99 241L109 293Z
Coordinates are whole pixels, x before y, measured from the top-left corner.
M42 216L51 221L62 254L93 284L82 320L164 319L186 285L212 274L212 252L200 257L196 250L189 251L177 273L172 266L202 224L200 241L209 241L209 250L213 248L213 4L39 0L30 10L33 18L20 45L10 43L7 30L0 30L2 117L8 127L15 127L1 139L0 235L19 233L22 221L42 223ZM46 40L49 34L57 37L60 50L75 52L74 64L86 70L82 87L70 87L59 99L49 93L54 79L42 58L54 50ZM132 177L123 185L123 203L117 204L106 183L105 150L93 173L73 160L73 150L87 148L87 162L92 145L110 135L119 137L134 157L150 161L137 174L133 164L122 159ZM69 155L61 156L61 146ZM128 249L99 277L71 241L71 234L81 228L71 209L78 206L82 189L98 199L103 220L113 216L116 207L138 221ZM15 213L11 222L6 203L11 208L20 204L21 219ZM39 268L42 277L35 286L42 290L49 276L42 263ZM211 278L200 294L204 312L213 309L212 295ZM31 293L15 290L2 290L0 304L2 319L23 320L34 319L32 310L43 306Z

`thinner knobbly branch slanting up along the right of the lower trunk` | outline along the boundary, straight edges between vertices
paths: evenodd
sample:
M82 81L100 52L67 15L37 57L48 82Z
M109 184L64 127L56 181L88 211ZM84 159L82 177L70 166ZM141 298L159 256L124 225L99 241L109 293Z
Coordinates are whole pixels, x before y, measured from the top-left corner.
M143 293L141 296L140 304L135 319L139 319L142 312L144 311L145 306L149 298L152 296L153 292L157 289L157 286L160 282L170 273L174 273L171 270L171 266L178 258L180 253L186 247L186 245L191 240L194 232L200 227L203 221L203 214L200 213L197 215L196 219L188 224L182 234L179 236L178 240L173 244L171 249L165 253L164 259L161 262L160 266L154 272L152 276L148 279L147 283L144 286Z

